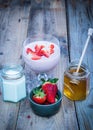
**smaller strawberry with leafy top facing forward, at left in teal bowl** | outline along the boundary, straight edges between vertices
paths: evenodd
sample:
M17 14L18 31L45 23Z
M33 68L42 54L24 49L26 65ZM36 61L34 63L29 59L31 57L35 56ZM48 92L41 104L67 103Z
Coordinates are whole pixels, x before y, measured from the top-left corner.
M46 94L44 93L44 91L42 91L41 88L36 88L33 91L32 99L38 104L43 104L46 101Z

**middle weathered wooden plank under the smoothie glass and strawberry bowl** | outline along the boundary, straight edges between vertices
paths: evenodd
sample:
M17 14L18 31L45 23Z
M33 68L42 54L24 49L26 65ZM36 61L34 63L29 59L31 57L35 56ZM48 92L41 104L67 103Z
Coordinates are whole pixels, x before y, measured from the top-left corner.
M58 87L62 91L63 73L68 63L68 46L66 30L66 12L65 2L62 1L41 1L39 6L37 1L30 10L30 21L28 26L28 36L31 34L48 33L55 35L60 41L61 58L58 66L53 70L52 76L58 77ZM46 2L46 3L42 3ZM31 3L34 5L34 3ZM48 4L48 5L47 5ZM42 8L41 8L42 6ZM25 66L27 77L27 87L33 87L33 72ZM30 81L29 81L30 80ZM35 85L35 82L34 82ZM35 87L35 86L34 86ZM22 123L21 123L22 122ZM77 119L75 115L74 103L63 97L60 111L50 117L40 117L33 113L29 101L21 103L17 129L25 130L78 130Z

